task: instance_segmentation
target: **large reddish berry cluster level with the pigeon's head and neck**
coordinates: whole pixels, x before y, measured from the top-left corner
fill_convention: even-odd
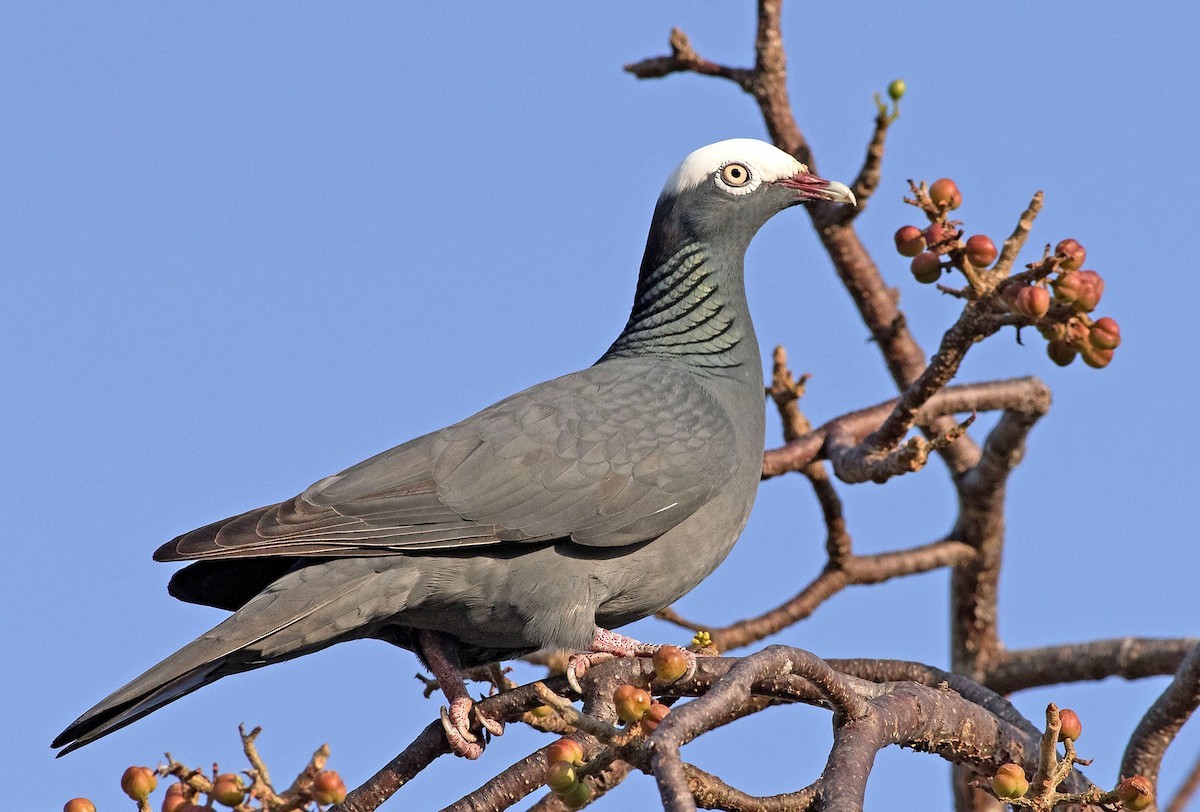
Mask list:
[[[992,273],[990,287],[998,289],[1003,307],[1021,323],[1037,326],[1055,363],[1067,366],[1076,355],[1094,368],[1112,361],[1121,330],[1109,317],[1091,317],[1104,294],[1104,279],[1084,270],[1087,252],[1078,240],[1062,240],[1052,254],[1048,249],[1039,263],[1015,276],[1009,276],[1007,260],[989,271],[1000,257],[991,237],[974,234],[964,240],[961,221],[947,219],[948,212],[962,204],[958,184],[942,178],[928,187],[914,184],[912,188],[914,197],[907,203],[922,209],[930,224],[924,229],[904,225],[894,240],[896,251],[912,258],[911,271],[918,282],[932,284],[953,269],[968,279]]]

